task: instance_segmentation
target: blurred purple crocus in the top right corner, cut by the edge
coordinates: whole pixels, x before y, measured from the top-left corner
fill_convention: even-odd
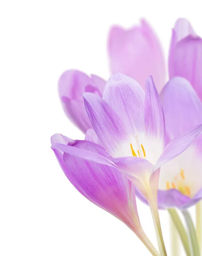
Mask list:
[[[169,76],[182,76],[190,81],[202,100],[202,39],[196,35],[188,20],[179,19],[173,29]]]

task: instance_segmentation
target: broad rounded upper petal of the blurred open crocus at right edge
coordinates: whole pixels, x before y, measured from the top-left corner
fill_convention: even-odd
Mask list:
[[[165,115],[166,132],[170,138],[202,123],[202,103],[186,79],[182,77],[171,79],[163,88],[160,98]]]

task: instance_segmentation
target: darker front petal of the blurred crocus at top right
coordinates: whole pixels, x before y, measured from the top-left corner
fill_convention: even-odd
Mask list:
[[[202,99],[202,39],[193,35],[179,41],[173,49],[173,72],[170,78],[182,76],[190,81]]]

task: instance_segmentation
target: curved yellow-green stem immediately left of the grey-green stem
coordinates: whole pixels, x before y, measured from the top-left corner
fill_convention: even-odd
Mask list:
[[[176,230],[179,233],[179,237],[182,241],[182,245],[184,247],[186,255],[191,256],[187,231],[185,230],[185,227],[182,224],[179,214],[177,213],[176,209],[168,209],[168,212],[172,218],[172,221],[174,223],[174,226],[176,227]]]

